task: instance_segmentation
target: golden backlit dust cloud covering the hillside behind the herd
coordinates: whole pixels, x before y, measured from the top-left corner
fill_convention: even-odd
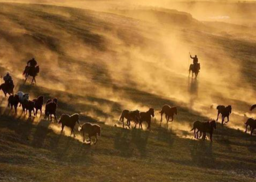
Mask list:
[[[234,113],[227,125],[235,129],[243,126],[243,113],[254,116],[248,111],[256,102],[255,84],[250,81],[254,72],[248,74],[250,67],[244,61],[253,61],[251,52],[246,52],[253,44],[230,37],[232,30],[242,34],[248,27],[231,26],[227,34],[221,34],[219,24],[201,18],[234,14],[211,15],[192,11],[199,7],[203,10],[201,4],[191,9],[186,3],[169,1],[147,1],[146,6],[144,1],[128,5],[110,1],[106,6],[98,6],[102,2],[25,3],[63,7],[9,3],[0,7],[1,74],[11,72],[14,81],[22,80],[26,61],[35,57],[41,69],[36,77],[38,85],[84,97],[79,104],[92,108],[81,114],[111,125],[118,122],[121,109],[146,111],[155,107],[157,113],[161,109],[159,98],[208,118],[216,117],[216,106],[232,104]],[[197,80],[188,77],[192,63],[189,52],[197,54],[201,64]],[[87,97],[114,104],[89,101]],[[115,104],[120,106],[113,111]],[[212,105],[214,109],[210,109]],[[156,118],[159,120],[158,114]],[[173,125],[188,131],[191,121]],[[182,132],[178,135],[186,137]]]

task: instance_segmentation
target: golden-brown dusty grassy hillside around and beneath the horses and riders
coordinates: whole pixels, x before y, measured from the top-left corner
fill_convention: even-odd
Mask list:
[[[77,126],[76,139],[68,129],[60,135],[57,123],[20,110],[13,116],[1,97],[0,181],[255,180],[255,137],[243,124],[244,114],[254,116],[255,43],[180,12],[196,23],[184,27],[170,21],[177,12],[166,11],[150,11],[159,22],[121,11],[0,4],[0,71],[11,72],[15,91],[57,97],[58,118],[79,113],[102,126],[99,143],[86,145]],[[197,81],[188,79],[188,51],[199,55]],[[32,56],[41,68],[38,87],[21,75]],[[164,104],[179,108],[168,125],[159,122]],[[230,122],[218,123],[213,143],[193,139],[193,121],[215,118],[217,104],[232,105]],[[149,107],[151,132],[119,127],[122,109]]]

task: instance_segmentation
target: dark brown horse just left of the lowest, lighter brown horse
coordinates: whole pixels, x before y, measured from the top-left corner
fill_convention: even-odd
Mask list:
[[[71,128],[71,134],[70,136],[72,136],[72,133],[74,134],[75,137],[75,131],[74,131],[74,127],[75,127],[75,123],[79,124],[79,114],[73,114],[72,116],[69,116],[68,114],[63,114],[60,117],[60,120],[58,122],[58,124],[61,124],[61,133],[64,130],[64,127],[67,126],[69,128]]]

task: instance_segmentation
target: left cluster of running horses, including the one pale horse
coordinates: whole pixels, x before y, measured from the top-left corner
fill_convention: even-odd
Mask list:
[[[19,105],[20,104],[20,105]],[[17,108],[18,105],[19,107],[22,106],[22,113],[27,115],[27,112],[29,113],[28,118],[32,118],[32,112],[34,116],[37,116],[38,110],[40,110],[40,116],[42,115],[42,108],[44,104],[44,97],[39,96],[36,99],[29,100],[29,93],[23,93],[19,91],[17,94],[11,95],[8,98],[8,107],[11,107],[11,110],[15,109],[15,114],[17,114]],[[58,106],[58,99],[53,98],[53,99],[48,99],[45,103],[45,116],[44,118],[48,117],[51,118],[52,121],[52,115],[55,117],[55,120],[57,121],[56,117],[56,110]],[[73,115],[68,115],[68,114],[63,114],[60,117],[60,120],[58,124],[61,124],[61,133],[64,130],[64,127],[67,126],[68,128],[71,128],[71,135],[72,133],[74,134],[75,137],[75,131],[74,131],[74,126],[75,124],[80,123],[80,115],[79,114],[73,114]],[[83,125],[79,126],[79,131],[83,133],[83,142],[85,142],[85,135],[88,134],[88,140],[89,143],[91,144],[91,137],[94,136],[96,138],[95,144],[97,143],[97,136],[100,136],[100,126],[97,124],[91,124],[91,123],[84,123]]]

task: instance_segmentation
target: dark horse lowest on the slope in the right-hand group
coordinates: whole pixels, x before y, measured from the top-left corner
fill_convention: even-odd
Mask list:
[[[197,132],[196,132],[196,129],[197,129]],[[201,137],[201,133],[203,132],[203,140],[205,140],[206,132],[209,132],[210,133],[210,139],[212,141],[212,134],[213,134],[214,129],[216,129],[215,120],[213,120],[211,122],[195,121],[193,123],[193,128],[190,131],[194,130],[195,138],[197,138],[197,139],[198,139],[198,132],[200,132],[199,138]]]

